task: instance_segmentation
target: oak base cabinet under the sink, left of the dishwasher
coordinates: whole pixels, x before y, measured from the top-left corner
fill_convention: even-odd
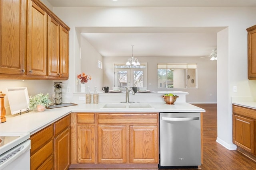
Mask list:
[[[158,113],[71,113],[74,168],[157,168]]]

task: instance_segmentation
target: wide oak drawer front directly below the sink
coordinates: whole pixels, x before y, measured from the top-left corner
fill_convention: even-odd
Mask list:
[[[98,113],[98,123],[158,123],[158,113]]]

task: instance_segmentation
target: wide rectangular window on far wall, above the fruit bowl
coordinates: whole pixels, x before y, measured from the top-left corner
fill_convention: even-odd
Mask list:
[[[197,64],[157,64],[158,88],[197,88]]]

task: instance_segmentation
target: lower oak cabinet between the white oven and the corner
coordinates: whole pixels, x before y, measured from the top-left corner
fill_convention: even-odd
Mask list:
[[[70,157],[70,115],[30,137],[31,170],[68,170]]]

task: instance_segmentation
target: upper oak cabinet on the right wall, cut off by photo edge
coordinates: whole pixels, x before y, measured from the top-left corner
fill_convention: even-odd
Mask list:
[[[248,31],[248,79],[256,80],[256,25]]]

